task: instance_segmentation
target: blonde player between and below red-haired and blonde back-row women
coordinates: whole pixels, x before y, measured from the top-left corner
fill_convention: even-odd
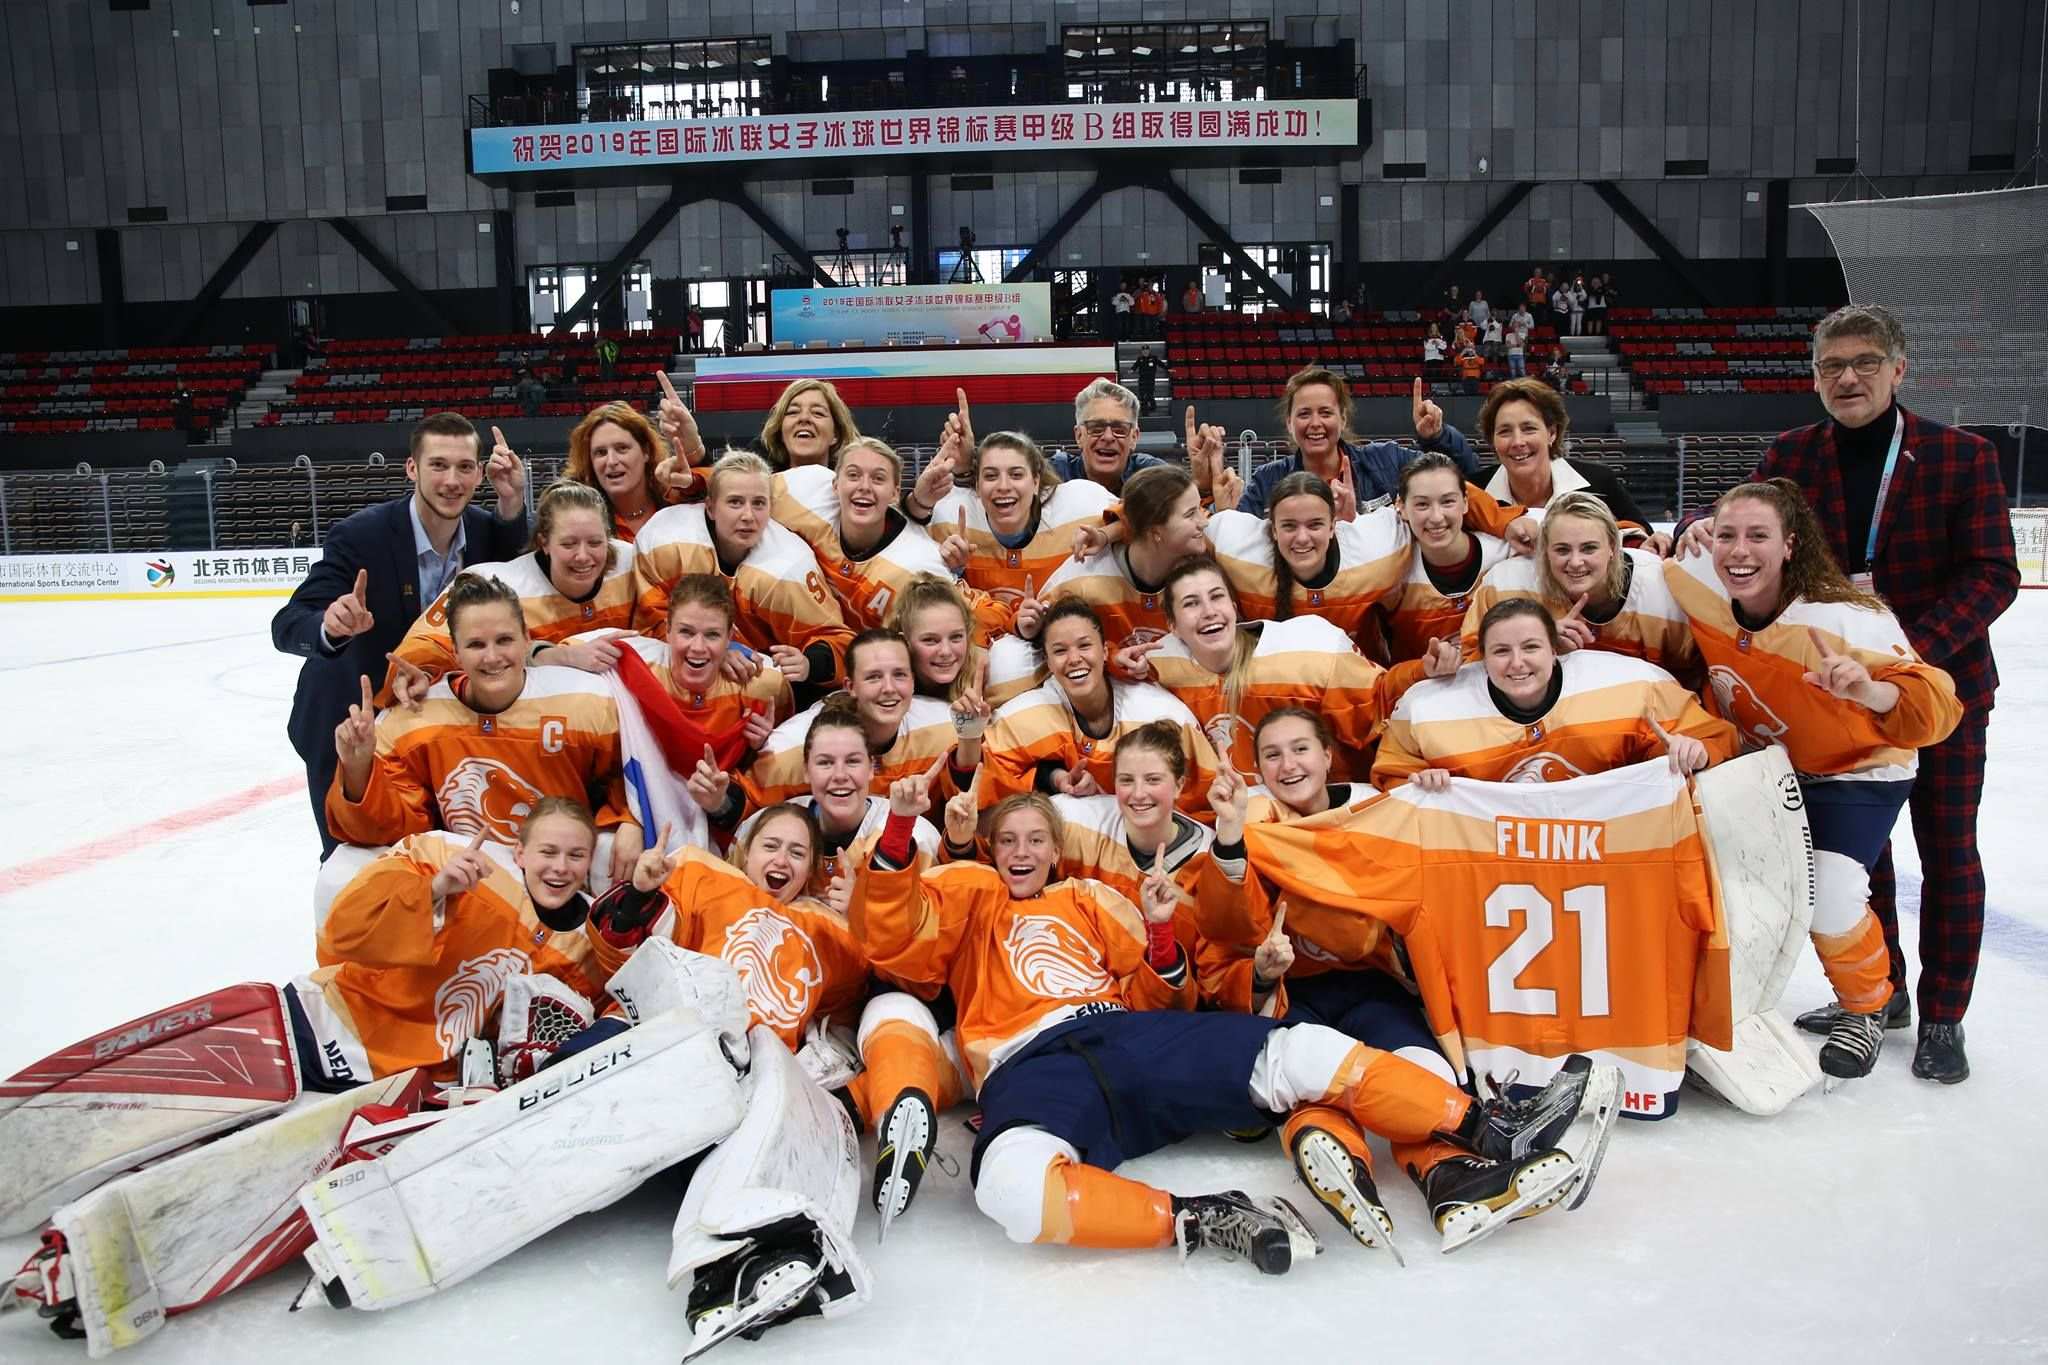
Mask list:
[[[815,698],[840,679],[854,632],[811,546],[768,514],[770,479],[762,456],[729,450],[711,467],[702,505],[668,508],[641,528],[635,622],[659,634],[676,579],[717,573],[733,585],[733,639],[745,647],[727,671],[745,681],[766,659]]]

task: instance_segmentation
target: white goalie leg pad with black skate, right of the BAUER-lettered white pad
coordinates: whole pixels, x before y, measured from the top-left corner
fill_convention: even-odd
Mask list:
[[[748,1111],[690,1177],[676,1214],[670,1287],[715,1279],[758,1234],[797,1218],[817,1230],[825,1259],[819,1310],[831,1318],[868,1300],[872,1279],[854,1248],[860,1138],[846,1105],[813,1083],[768,1027],[750,1038]],[[731,1267],[723,1267],[729,1271]]]

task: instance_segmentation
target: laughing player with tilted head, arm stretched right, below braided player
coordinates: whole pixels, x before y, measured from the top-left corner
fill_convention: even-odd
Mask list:
[[[1161,585],[1171,634],[1147,663],[1159,686],[1182,700],[1237,772],[1253,772],[1251,726],[1276,706],[1317,706],[1339,737],[1341,767],[1364,772],[1374,737],[1401,692],[1425,667],[1456,669],[1456,651],[1434,665],[1393,671],[1360,655],[1327,620],[1300,616],[1241,626],[1223,567],[1184,559]]]

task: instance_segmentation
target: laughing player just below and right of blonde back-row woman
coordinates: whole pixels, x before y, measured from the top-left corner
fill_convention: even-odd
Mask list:
[[[846,442],[834,469],[805,465],[774,481],[776,522],[817,553],[856,630],[887,622],[913,575],[952,577],[932,534],[897,508],[901,487],[903,456],[872,436]],[[977,645],[1010,628],[1012,612],[1001,602],[971,587],[963,596]]]

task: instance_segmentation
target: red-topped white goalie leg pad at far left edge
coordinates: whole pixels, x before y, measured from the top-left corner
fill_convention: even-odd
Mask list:
[[[270,984],[201,995],[53,1052],[0,1081],[0,1236],[297,1095],[299,1056]]]

